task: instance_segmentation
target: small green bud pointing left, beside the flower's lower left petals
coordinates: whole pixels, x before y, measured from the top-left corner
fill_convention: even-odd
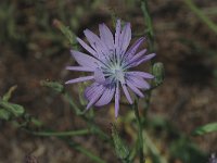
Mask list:
[[[41,80],[40,85],[53,89],[56,92],[63,92],[64,86],[58,82]]]

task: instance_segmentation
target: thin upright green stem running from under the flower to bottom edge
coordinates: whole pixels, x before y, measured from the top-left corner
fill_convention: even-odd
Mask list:
[[[139,116],[138,98],[135,100],[133,110],[135,110],[135,115],[136,115],[137,125],[138,125],[138,140],[139,140],[140,163],[143,163],[144,162],[144,154],[143,154],[142,123],[141,123],[141,118]]]

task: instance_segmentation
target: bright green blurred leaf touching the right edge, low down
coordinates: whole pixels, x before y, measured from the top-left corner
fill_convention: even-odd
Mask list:
[[[217,131],[217,123],[209,123],[204,126],[197,127],[192,131],[193,135],[204,135],[207,133]]]

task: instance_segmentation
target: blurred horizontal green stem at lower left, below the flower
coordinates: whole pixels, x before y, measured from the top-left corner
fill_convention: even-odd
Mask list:
[[[80,129],[80,130],[69,130],[69,131],[31,131],[33,135],[36,136],[55,136],[55,137],[66,137],[66,136],[81,136],[90,134],[89,129]]]

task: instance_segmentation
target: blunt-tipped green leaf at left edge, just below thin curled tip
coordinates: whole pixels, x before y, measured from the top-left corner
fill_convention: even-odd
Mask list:
[[[12,113],[14,116],[18,117],[21,115],[24,114],[25,110],[22,105],[20,104],[15,104],[15,103],[11,103],[11,102],[7,102],[3,100],[0,100],[0,105],[9,111],[10,113]]]

